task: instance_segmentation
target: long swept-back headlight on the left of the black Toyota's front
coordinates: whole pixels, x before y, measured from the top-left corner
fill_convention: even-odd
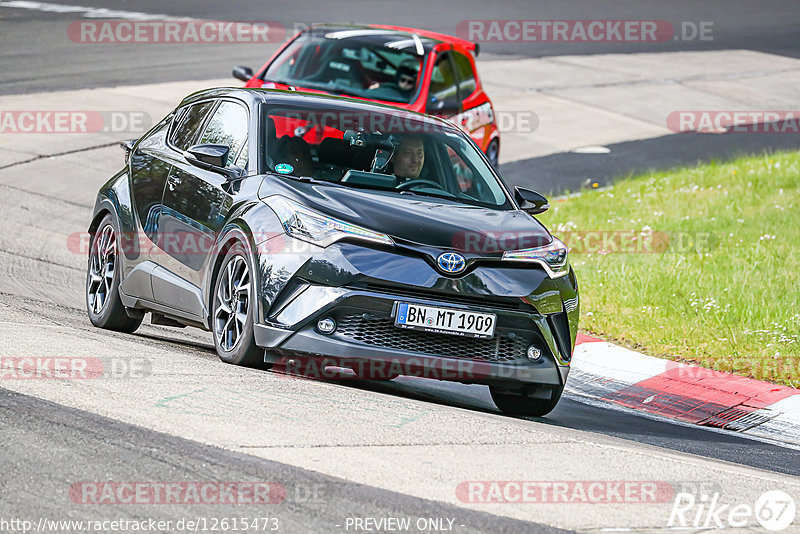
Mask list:
[[[320,247],[346,238],[394,244],[386,234],[329,217],[279,195],[267,198],[266,203],[278,215],[287,234]]]

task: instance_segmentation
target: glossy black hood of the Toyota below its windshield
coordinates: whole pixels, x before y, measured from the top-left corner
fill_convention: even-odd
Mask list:
[[[478,255],[552,241],[547,229],[519,210],[488,209],[432,197],[320,185],[268,176],[262,199],[282,195],[326,215],[385,233],[398,244]]]

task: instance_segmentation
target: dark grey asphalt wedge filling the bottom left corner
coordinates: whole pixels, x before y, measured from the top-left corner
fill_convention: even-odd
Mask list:
[[[182,481],[196,480],[198,473],[204,480],[268,480],[285,488],[285,501],[275,506],[280,506],[278,512],[269,508],[265,512],[263,505],[165,505],[156,515],[158,520],[175,524],[198,517],[271,516],[279,520],[282,532],[325,532],[338,530],[333,527],[344,525],[347,517],[432,513],[431,503],[423,499],[231,453],[1,389],[0,433],[5,445],[5,517],[66,517],[63,503],[70,501],[69,488],[76,480]],[[106,461],[110,459],[117,461]],[[566,532],[455,506],[440,504],[435,513],[455,519],[458,531],[464,533]],[[97,507],[92,519],[121,516],[147,520],[154,514],[142,507],[116,505]]]

